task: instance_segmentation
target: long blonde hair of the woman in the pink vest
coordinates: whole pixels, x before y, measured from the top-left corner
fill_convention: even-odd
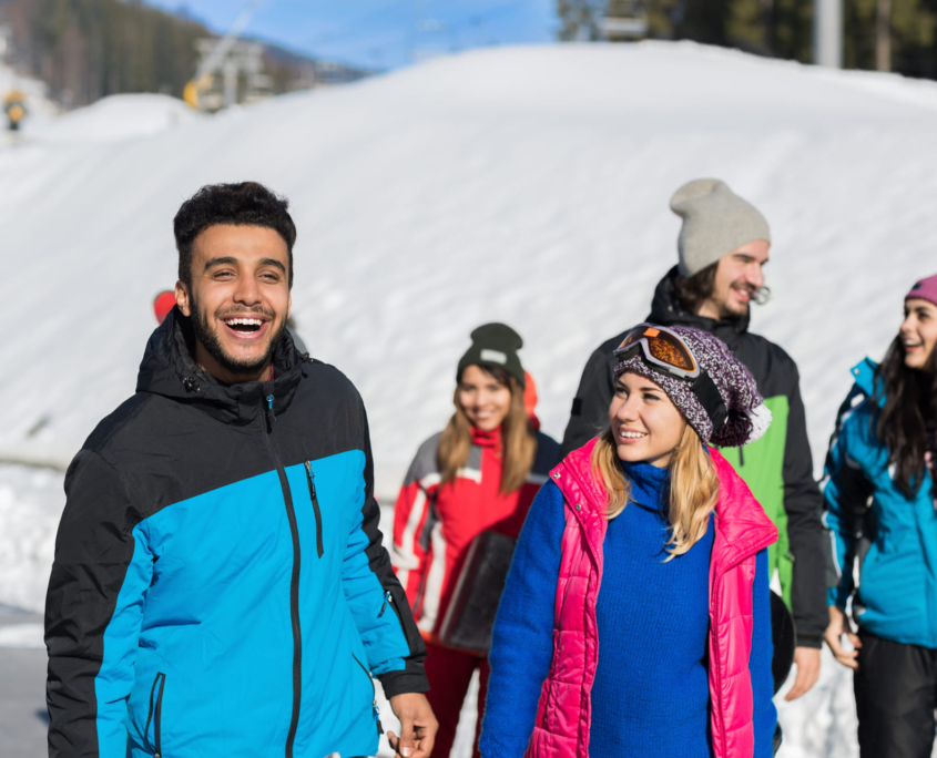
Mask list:
[[[670,561],[682,555],[706,533],[710,514],[719,500],[719,475],[712,459],[703,448],[700,436],[689,423],[673,449],[670,469],[670,540],[666,551]],[[620,515],[631,496],[631,482],[625,478],[614,440],[607,429],[592,449],[592,473],[602,482],[608,494],[605,518]]]

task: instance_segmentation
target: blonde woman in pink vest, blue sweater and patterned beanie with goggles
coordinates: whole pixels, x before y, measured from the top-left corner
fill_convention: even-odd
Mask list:
[[[767,546],[710,445],[771,412],[712,335],[644,324],[615,352],[609,428],[550,473],[495,625],[485,758],[770,758]]]

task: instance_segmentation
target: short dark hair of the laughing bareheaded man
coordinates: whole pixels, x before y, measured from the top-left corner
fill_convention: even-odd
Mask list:
[[[293,245],[296,225],[287,213],[289,201],[278,197],[263,184],[208,184],[185,201],[173,218],[175,247],[179,250],[179,278],[192,286],[192,246],[210,226],[265,226],[286,243],[289,252],[289,287],[293,287]]]

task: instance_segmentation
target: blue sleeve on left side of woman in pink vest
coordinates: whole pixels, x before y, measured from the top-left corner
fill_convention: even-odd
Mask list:
[[[515,549],[498,606],[491,676],[479,749],[485,758],[521,758],[553,658],[553,607],[566,518],[559,488],[540,490]]]

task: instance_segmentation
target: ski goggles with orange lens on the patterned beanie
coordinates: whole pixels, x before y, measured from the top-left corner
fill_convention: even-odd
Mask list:
[[[700,367],[690,346],[675,331],[653,324],[639,324],[624,336],[614,357],[622,362],[639,354],[655,371],[690,382],[690,390],[712,420],[713,429],[719,429],[729,418],[725,401],[712,377]]]

